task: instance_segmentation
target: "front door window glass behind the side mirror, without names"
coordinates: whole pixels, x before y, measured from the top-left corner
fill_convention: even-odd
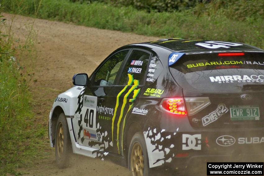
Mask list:
[[[95,73],[94,86],[111,86],[129,50],[121,51],[109,58]]]

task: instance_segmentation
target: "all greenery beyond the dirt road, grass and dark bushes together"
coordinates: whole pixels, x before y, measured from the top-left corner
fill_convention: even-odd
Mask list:
[[[39,2],[9,0],[6,11],[34,16]],[[42,4],[38,18],[147,36],[238,41],[264,48],[262,0],[43,0]]]

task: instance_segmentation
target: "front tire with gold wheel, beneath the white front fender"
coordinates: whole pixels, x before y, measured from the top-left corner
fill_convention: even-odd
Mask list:
[[[56,125],[55,156],[59,168],[68,166],[72,156],[70,133],[64,113],[59,115]]]

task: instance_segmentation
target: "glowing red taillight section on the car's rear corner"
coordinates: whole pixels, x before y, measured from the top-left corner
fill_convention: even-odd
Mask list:
[[[164,98],[160,106],[172,114],[186,115],[183,98]]]

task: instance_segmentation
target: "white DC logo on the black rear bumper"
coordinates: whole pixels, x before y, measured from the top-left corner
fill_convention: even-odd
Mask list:
[[[182,150],[201,150],[202,137],[200,134],[197,135],[182,135]]]

